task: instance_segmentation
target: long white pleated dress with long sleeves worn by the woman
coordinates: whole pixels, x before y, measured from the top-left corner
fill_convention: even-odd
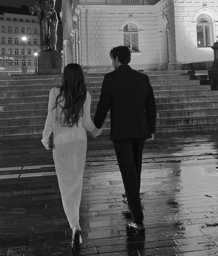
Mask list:
[[[48,115],[41,142],[48,147],[49,136],[53,129],[53,158],[60,187],[62,203],[70,227],[79,225],[79,206],[81,201],[83,170],[86,160],[86,130],[98,136],[97,129],[90,117],[91,96],[86,93],[83,116],[79,118],[78,127],[63,126],[62,108],[55,106],[60,88],[52,88],[49,94]],[[64,105],[64,101],[60,103]]]

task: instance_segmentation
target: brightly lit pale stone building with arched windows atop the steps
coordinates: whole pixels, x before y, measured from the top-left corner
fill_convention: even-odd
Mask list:
[[[206,69],[214,60],[217,0],[66,0],[60,16],[64,65],[105,72],[118,45],[142,70]]]

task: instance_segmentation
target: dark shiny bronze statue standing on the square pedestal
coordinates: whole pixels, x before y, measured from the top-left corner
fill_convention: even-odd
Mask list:
[[[37,0],[35,4],[29,6],[29,11],[33,15],[36,13],[39,19],[43,39],[45,43],[44,51],[57,51],[57,13],[54,10],[56,0]]]

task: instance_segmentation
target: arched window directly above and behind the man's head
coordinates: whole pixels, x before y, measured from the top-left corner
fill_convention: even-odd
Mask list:
[[[139,52],[139,32],[138,28],[130,23],[124,27],[124,45],[129,47],[131,52]]]

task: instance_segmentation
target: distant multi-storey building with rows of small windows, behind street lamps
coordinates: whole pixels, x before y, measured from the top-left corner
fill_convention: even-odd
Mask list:
[[[24,6],[25,7],[25,6]],[[37,16],[27,8],[0,7],[0,72],[21,72],[24,54],[28,72],[35,71],[35,52],[41,51]],[[22,37],[26,37],[26,41]]]

